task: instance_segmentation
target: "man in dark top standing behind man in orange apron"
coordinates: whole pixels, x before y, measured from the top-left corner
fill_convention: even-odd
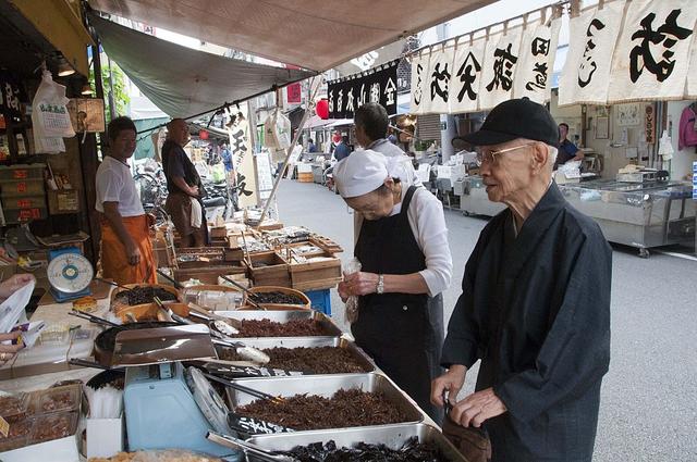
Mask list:
[[[206,208],[201,200],[205,189],[196,167],[184,152],[188,142],[188,125],[182,118],[174,118],[167,129],[162,170],[169,195],[164,209],[181,237],[182,247],[203,247],[208,241]]]

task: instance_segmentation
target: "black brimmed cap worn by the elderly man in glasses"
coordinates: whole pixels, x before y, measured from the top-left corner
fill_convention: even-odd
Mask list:
[[[478,132],[453,138],[455,148],[465,141],[472,146],[491,146],[516,138],[559,146],[559,126],[547,108],[528,98],[504,101],[491,110]]]

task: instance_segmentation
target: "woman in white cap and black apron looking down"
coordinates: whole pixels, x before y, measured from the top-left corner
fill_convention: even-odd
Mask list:
[[[354,250],[362,272],[346,275],[339,294],[344,300],[359,296],[358,317],[351,326],[358,346],[439,421],[430,380],[441,348],[433,344],[442,333],[431,328],[427,299],[450,285],[448,228],[430,191],[403,186],[390,175],[400,161],[365,150],[334,167],[339,192],[364,218]]]

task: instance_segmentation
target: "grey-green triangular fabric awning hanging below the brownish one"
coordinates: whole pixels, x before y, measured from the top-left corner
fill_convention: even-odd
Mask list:
[[[193,50],[89,14],[107,54],[172,117],[209,111],[314,75]]]

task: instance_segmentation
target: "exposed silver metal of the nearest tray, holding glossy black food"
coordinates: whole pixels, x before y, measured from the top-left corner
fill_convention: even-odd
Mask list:
[[[445,439],[442,433],[436,427],[426,424],[398,424],[382,425],[380,427],[345,428],[316,432],[297,432],[282,435],[257,435],[247,441],[260,446],[271,451],[288,451],[296,446],[307,446],[313,442],[322,445],[330,439],[337,442],[338,447],[354,447],[358,442],[383,444],[391,449],[399,449],[404,442],[418,436],[419,442],[432,442],[441,451],[442,455],[452,462],[467,462],[455,447]],[[248,455],[250,462],[258,462],[259,459]]]

